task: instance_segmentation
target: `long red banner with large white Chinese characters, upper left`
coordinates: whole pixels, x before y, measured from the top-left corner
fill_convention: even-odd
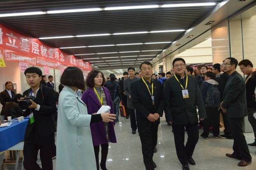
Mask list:
[[[39,39],[17,33],[0,24],[0,55],[7,61],[26,62],[34,66],[46,66],[64,69],[67,66],[80,67],[90,71],[89,62],[76,59],[73,55],[63,53],[59,48],[52,48]]]

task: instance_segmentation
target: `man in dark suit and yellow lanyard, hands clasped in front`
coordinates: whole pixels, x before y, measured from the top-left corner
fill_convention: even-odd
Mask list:
[[[131,98],[136,110],[136,120],[142,145],[146,170],[156,168],[153,151],[157,144],[157,130],[164,110],[163,90],[158,80],[152,79],[150,62],[140,65],[142,78],[131,83]]]

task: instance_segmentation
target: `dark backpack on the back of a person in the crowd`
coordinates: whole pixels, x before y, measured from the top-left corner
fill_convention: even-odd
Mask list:
[[[219,107],[221,103],[221,93],[217,85],[210,85],[207,90],[207,97],[205,99],[207,106]]]

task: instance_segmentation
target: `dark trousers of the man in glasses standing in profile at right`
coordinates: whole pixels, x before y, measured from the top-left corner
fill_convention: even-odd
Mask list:
[[[231,129],[231,134],[234,139],[233,143],[233,155],[244,161],[251,161],[251,155],[248,149],[247,142],[242,131],[242,122],[244,117],[229,118],[228,122]]]

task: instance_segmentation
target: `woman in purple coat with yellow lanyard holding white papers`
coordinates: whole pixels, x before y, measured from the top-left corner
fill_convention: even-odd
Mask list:
[[[96,113],[102,105],[110,106],[110,113],[114,113],[110,93],[103,85],[106,83],[101,71],[92,70],[86,78],[88,90],[82,95],[82,101],[87,105],[88,114]],[[106,160],[108,155],[108,142],[116,143],[114,126],[115,122],[98,122],[90,125],[92,131],[92,141],[96,158],[97,170],[99,170],[99,145],[101,145],[101,169],[106,170]]]

